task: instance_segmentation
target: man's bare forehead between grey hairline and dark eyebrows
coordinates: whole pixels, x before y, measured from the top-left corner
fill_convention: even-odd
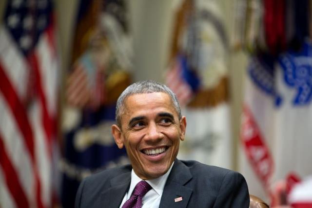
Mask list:
[[[177,116],[171,97],[164,92],[133,94],[125,100],[124,114],[140,114],[161,110]]]

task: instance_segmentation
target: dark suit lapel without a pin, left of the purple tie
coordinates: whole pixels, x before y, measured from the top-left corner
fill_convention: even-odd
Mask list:
[[[101,207],[118,208],[128,191],[131,180],[131,172],[123,173],[111,180],[111,188],[101,193]]]

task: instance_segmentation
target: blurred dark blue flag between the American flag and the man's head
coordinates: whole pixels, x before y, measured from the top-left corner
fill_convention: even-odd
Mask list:
[[[66,80],[61,200],[72,208],[80,181],[128,163],[111,134],[119,94],[130,84],[131,42],[123,0],[81,0]]]

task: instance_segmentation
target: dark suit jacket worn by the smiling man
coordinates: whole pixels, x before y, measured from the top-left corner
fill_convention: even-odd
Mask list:
[[[122,166],[87,177],[79,186],[76,208],[118,208],[128,191],[132,167]],[[175,198],[182,196],[182,201]],[[196,161],[175,160],[159,208],[248,208],[245,178],[234,171]]]

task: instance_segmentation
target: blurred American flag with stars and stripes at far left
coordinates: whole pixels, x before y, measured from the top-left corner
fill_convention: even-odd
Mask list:
[[[10,0],[0,25],[0,207],[52,206],[58,60],[52,2]]]

